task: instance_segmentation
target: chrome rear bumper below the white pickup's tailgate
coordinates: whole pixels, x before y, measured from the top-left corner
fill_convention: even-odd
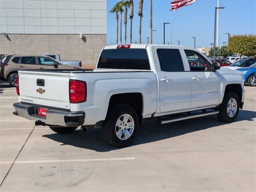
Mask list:
[[[42,117],[37,114],[37,109],[41,106],[27,103],[14,103],[13,106],[16,110],[16,112],[14,112],[15,115],[29,120],[40,120],[46,125],[76,127],[84,124],[84,112],[70,112],[67,110],[42,106],[42,108],[47,108],[46,117]]]

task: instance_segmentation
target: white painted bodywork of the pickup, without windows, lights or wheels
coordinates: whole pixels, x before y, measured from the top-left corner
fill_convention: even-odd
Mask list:
[[[190,71],[182,46],[132,44],[130,49],[146,49],[150,70],[97,69],[86,72],[19,71],[20,100],[33,100],[33,104],[85,112],[84,125],[105,120],[111,96],[138,92],[143,98],[143,118],[163,116],[192,110],[213,108],[223,100],[228,84],[240,84],[244,89],[242,72],[221,68],[216,71]],[[156,53],[158,48],[178,49],[184,64],[182,72],[164,72]],[[103,50],[116,49],[116,45]],[[204,57],[204,56],[202,56]],[[204,57],[206,60],[208,58]],[[210,62],[210,60],[208,60]],[[38,94],[36,79],[45,79],[45,94]],[[164,81],[168,78],[168,81]],[[194,79],[196,78],[196,79]],[[69,102],[69,80],[86,82],[86,102]],[[242,98],[242,101],[244,98]]]

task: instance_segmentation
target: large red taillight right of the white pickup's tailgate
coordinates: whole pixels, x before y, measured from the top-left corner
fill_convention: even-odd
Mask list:
[[[82,103],[86,101],[86,82],[79,80],[69,81],[70,103]]]

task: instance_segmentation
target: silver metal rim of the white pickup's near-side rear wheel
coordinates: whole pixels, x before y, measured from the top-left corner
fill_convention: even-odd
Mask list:
[[[116,121],[116,136],[120,140],[129,139],[134,131],[134,120],[129,114],[121,115]]]

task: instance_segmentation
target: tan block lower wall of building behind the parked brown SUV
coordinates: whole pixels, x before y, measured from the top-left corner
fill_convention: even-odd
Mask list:
[[[84,68],[95,68],[106,45],[106,34],[0,34],[0,54],[60,54],[61,60],[82,60]]]

